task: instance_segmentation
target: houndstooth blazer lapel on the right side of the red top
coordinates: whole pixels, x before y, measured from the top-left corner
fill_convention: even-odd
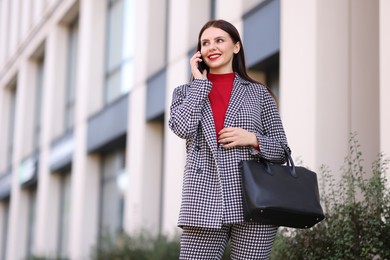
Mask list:
[[[230,96],[229,106],[226,111],[224,127],[233,127],[233,122],[237,112],[240,110],[244,102],[246,88],[241,84],[241,78],[236,76],[233,83],[232,94]]]

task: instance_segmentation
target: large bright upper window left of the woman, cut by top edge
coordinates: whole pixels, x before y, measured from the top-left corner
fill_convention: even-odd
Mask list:
[[[110,0],[106,43],[105,103],[128,93],[134,84],[134,0]]]

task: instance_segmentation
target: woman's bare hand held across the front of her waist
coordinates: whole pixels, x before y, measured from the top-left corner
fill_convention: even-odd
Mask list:
[[[224,148],[233,148],[236,146],[251,145],[259,147],[256,135],[239,127],[227,127],[218,133],[218,143],[223,144]]]

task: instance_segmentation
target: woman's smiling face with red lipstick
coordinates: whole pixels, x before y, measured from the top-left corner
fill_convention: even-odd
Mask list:
[[[203,61],[210,73],[233,72],[233,56],[240,51],[240,43],[234,43],[230,35],[222,29],[207,28],[200,38]]]

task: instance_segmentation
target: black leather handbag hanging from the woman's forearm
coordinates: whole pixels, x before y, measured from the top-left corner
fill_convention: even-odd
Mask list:
[[[296,167],[289,149],[283,148],[287,165],[262,159],[241,161],[244,219],[292,228],[313,227],[325,218],[317,174]]]

